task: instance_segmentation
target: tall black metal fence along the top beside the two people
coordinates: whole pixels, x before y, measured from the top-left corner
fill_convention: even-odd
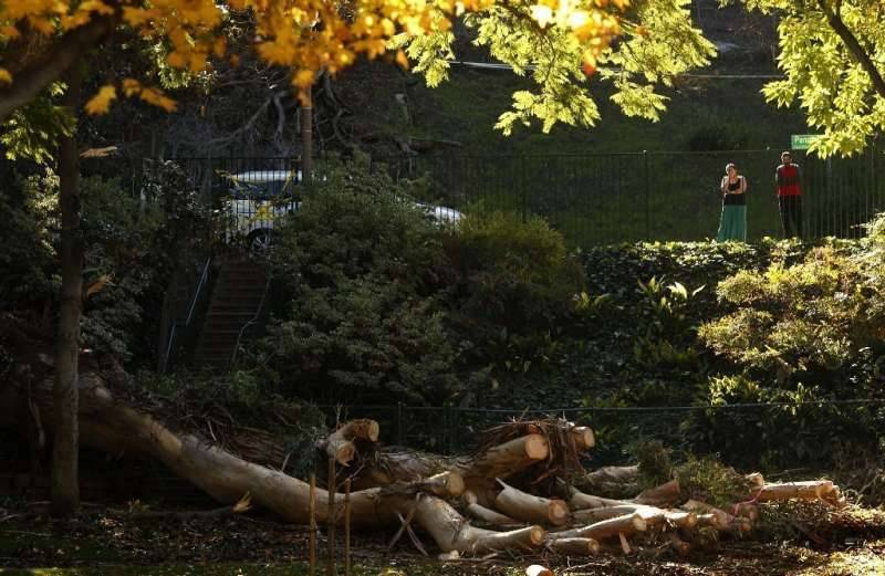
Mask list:
[[[885,211],[885,155],[875,146],[851,158],[820,159],[794,153],[802,169],[806,239],[858,238],[863,224]],[[183,158],[207,203],[236,191],[236,175],[256,181],[290,175],[293,158]],[[748,180],[748,241],[780,237],[774,184],[779,150],[625,153],[546,156],[419,156],[375,160],[394,178],[428,176],[433,198],[462,212],[479,209],[540,214],[573,245],[635,241],[699,241],[716,237],[719,182],[735,163]],[[316,163],[322,167],[322,163]],[[242,178],[241,178],[242,179]],[[300,186],[288,188],[295,196]],[[239,210],[251,205],[241,203]],[[264,210],[264,212],[268,212]],[[270,212],[273,217],[275,213]],[[266,218],[268,213],[240,214]],[[254,228],[254,227],[253,227]]]

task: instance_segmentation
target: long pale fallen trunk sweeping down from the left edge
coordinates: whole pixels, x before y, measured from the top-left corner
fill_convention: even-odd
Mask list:
[[[249,493],[253,503],[282,519],[308,524],[308,483],[247,462],[194,434],[171,431],[152,415],[122,404],[96,374],[84,374],[80,381],[82,401],[79,420],[83,444],[113,454],[149,454],[221,503],[235,504]],[[41,411],[51,413],[51,380],[34,388],[34,400]],[[8,383],[0,386],[0,418],[14,415],[22,401],[18,387]],[[323,502],[329,500],[329,494],[325,490],[316,489],[315,499]],[[334,511],[332,520],[340,522],[343,494],[335,494],[334,503],[330,506]],[[415,485],[353,492],[350,494],[350,510],[354,526],[395,525],[399,515],[412,513],[416,523],[445,552],[537,547],[545,536],[545,531],[540,526],[512,532],[476,528],[447,502],[420,493]],[[329,510],[317,506],[316,522],[326,523],[329,520]]]

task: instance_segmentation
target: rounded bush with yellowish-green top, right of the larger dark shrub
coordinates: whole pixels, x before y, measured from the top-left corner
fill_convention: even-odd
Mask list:
[[[562,234],[540,217],[523,222],[480,210],[449,232],[445,252],[456,274],[448,290],[452,321],[477,344],[476,359],[521,371],[549,360],[583,290]]]

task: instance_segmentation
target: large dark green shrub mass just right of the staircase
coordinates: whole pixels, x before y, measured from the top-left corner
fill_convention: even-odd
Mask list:
[[[435,222],[424,193],[333,167],[277,230],[284,305],[243,368],[290,396],[436,405],[528,369],[580,287],[562,235],[500,212]]]

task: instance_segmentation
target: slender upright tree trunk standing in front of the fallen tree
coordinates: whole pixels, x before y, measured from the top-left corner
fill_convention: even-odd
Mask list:
[[[64,105],[76,117],[82,63],[67,72]],[[80,509],[77,483],[77,377],[80,358],[80,316],[83,308],[83,238],[80,229],[80,165],[76,151],[76,128],[59,146],[59,181],[61,207],[62,289],[59,336],[55,359],[55,430],[52,446],[52,512],[70,516]]]

